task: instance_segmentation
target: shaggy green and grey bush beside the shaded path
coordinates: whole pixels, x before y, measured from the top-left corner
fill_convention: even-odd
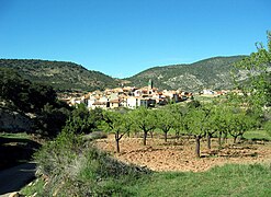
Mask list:
[[[35,159],[38,171],[48,177],[44,189],[48,196],[131,196],[124,185],[151,172],[111,158],[68,127]]]

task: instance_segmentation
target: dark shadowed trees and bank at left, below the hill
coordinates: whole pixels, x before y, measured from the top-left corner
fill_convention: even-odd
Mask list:
[[[55,90],[0,68],[0,131],[34,132],[55,137],[71,108],[57,100]]]

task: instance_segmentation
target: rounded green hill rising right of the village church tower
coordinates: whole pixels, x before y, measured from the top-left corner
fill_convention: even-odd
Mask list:
[[[180,89],[194,92],[202,89],[230,89],[233,63],[245,57],[214,57],[190,65],[154,67],[124,80],[126,85],[146,86],[151,79],[154,86],[160,90]]]

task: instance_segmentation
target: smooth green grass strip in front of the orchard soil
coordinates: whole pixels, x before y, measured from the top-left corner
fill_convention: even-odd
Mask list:
[[[126,189],[134,196],[270,196],[270,179],[268,166],[228,164],[202,173],[155,173]]]

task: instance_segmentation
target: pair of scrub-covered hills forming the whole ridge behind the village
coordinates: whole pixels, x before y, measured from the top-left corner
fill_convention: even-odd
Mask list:
[[[0,67],[12,68],[25,79],[49,84],[57,91],[93,91],[122,84],[146,86],[149,79],[160,90],[199,91],[233,88],[230,69],[234,62],[245,57],[247,56],[217,56],[192,63],[156,66],[124,79],[88,70],[70,61],[0,59]]]

